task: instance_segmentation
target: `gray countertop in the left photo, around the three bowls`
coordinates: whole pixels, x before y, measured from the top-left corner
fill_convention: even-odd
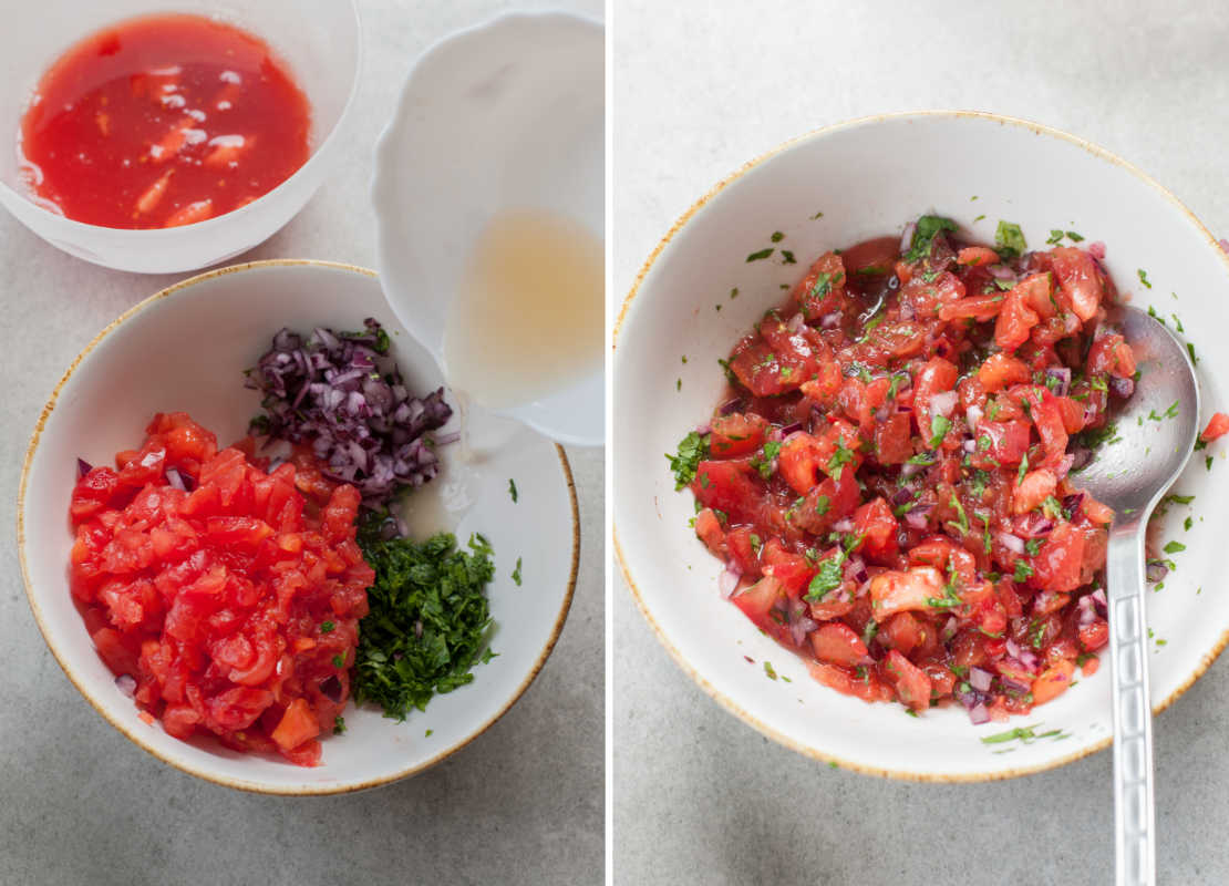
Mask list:
[[[497,0],[364,0],[364,79],[343,168],[281,232],[236,261],[375,264],[375,139],[410,61],[504,9]],[[600,0],[526,2],[602,15]],[[436,768],[379,790],[280,799],[165,766],[107,725],[31,617],[11,532],[34,419],[77,351],[172,283],[69,258],[0,214],[0,884],[594,884],[603,828],[603,457],[571,450],[581,563],[559,644],[525,697]]]

